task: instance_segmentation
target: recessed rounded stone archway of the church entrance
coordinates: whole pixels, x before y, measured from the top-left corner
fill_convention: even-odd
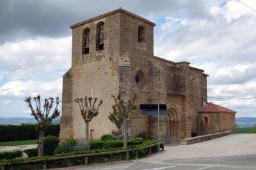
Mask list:
[[[168,129],[167,136],[171,139],[179,139],[180,138],[180,115],[177,106],[172,104],[170,108],[168,108]]]

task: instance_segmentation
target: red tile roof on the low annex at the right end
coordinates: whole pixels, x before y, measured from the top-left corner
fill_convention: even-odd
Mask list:
[[[216,113],[216,112],[223,112],[223,113],[236,113],[234,110],[230,110],[228,108],[224,108],[217,104],[208,103],[202,109],[198,111],[199,113]]]

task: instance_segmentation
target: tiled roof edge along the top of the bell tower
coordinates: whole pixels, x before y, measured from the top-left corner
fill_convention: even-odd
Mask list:
[[[89,19],[81,21],[81,22],[77,22],[76,24],[70,25],[70,28],[73,29],[74,27],[77,27],[79,25],[83,25],[86,22],[92,22],[93,20],[99,20],[100,18],[108,17],[109,15],[112,15],[112,14],[117,13],[117,12],[124,12],[124,13],[126,13],[128,15],[131,15],[132,17],[138,18],[140,20],[143,20],[144,22],[147,22],[148,24],[156,26],[156,24],[154,22],[151,22],[150,20],[147,20],[147,19],[145,19],[143,17],[140,17],[140,15],[136,15],[136,14],[131,13],[130,11],[124,10],[122,8],[117,8],[116,10],[109,11],[107,13],[103,13],[102,15],[98,15],[96,17],[89,18]]]

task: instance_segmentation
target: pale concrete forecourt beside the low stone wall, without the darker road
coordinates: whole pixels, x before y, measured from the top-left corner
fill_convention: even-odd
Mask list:
[[[191,145],[164,146],[164,152],[143,161],[256,154],[256,134],[231,134]]]

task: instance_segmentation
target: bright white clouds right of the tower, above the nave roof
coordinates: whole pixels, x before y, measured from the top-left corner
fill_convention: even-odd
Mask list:
[[[155,30],[155,55],[204,69],[208,96],[256,97],[256,13],[235,0],[207,12],[209,17],[199,18],[166,15]],[[256,99],[209,101],[237,111],[237,117],[256,116]]]

